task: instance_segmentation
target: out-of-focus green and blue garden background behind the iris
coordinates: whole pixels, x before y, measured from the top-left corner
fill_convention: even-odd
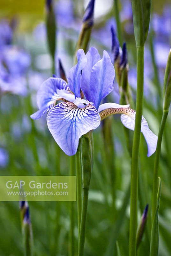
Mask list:
[[[145,96],[143,115],[150,129],[158,134],[162,115],[163,76],[171,45],[170,1],[152,1],[150,32],[145,47]],[[57,58],[66,71],[73,66],[73,55],[81,19],[87,1],[63,0],[55,2],[57,22]],[[131,3],[119,3],[123,41],[127,43],[130,72],[129,83],[135,100],[136,55]],[[30,56],[30,64],[22,75],[26,93],[3,91],[0,87],[0,172],[1,175],[69,175],[69,157],[57,146],[46,124],[46,117],[33,121],[29,116],[37,109],[36,92],[41,83],[51,76],[51,59],[45,31],[44,1],[1,0],[0,18],[13,21],[12,45],[17,45]],[[97,0],[95,24],[90,46],[99,52],[111,52],[110,26],[115,26],[112,0]],[[56,65],[56,70],[58,66]],[[21,83],[22,84],[22,83]],[[22,92],[21,86],[21,92]],[[159,95],[160,91],[160,95]],[[110,100],[119,102],[115,90]],[[105,127],[112,137],[112,153],[108,154]],[[171,255],[171,117],[168,116],[160,160],[162,191],[160,199],[159,256]],[[106,128],[107,129],[107,128]],[[107,133],[109,134],[109,133]],[[90,187],[85,240],[85,256],[119,255],[129,253],[129,184],[130,156],[126,146],[120,116],[108,118],[93,132],[94,166]],[[154,156],[148,158],[144,137],[140,145],[140,174],[138,187],[138,220],[149,204],[152,208],[152,177]],[[29,202],[35,255],[68,255],[69,202]],[[75,248],[77,251],[77,205],[75,202]],[[18,202],[0,202],[0,255],[24,255]],[[149,255],[150,217],[138,255]]]

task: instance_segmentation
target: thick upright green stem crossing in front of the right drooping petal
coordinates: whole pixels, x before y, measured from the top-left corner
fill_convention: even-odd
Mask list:
[[[141,133],[144,85],[144,46],[137,47],[137,102],[135,131],[132,147],[130,190],[130,247],[129,255],[136,256],[137,201],[138,201],[138,152]]]

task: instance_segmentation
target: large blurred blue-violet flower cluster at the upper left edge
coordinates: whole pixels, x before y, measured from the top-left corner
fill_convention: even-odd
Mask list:
[[[3,44],[0,45],[0,92],[25,96],[27,93],[25,74],[31,63],[30,55],[11,45],[12,30],[7,22],[0,23],[0,37],[1,34]]]

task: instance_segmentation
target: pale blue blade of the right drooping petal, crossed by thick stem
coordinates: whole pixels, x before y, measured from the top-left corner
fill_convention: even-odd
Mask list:
[[[129,115],[121,115],[121,122],[123,123],[123,125],[133,131],[135,127],[135,115],[135,111]],[[143,133],[147,143],[147,156],[151,156],[156,151],[158,137],[149,129],[147,121],[145,120],[144,116],[142,116],[141,120],[141,132]]]

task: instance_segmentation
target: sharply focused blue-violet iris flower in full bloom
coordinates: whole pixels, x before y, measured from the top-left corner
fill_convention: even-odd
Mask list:
[[[100,59],[94,47],[86,55],[79,49],[77,59],[77,65],[69,71],[68,84],[61,78],[51,77],[41,85],[37,93],[39,110],[31,115],[31,118],[39,119],[48,112],[48,129],[69,156],[77,152],[79,138],[96,129],[101,119],[122,114],[123,125],[134,130],[136,114],[129,105],[100,105],[101,100],[112,92],[115,78],[115,69],[106,51]],[[83,93],[86,99],[83,99]],[[57,100],[64,102],[55,105]],[[148,156],[151,156],[156,150],[157,136],[149,129],[143,116],[141,132],[148,145]]]

